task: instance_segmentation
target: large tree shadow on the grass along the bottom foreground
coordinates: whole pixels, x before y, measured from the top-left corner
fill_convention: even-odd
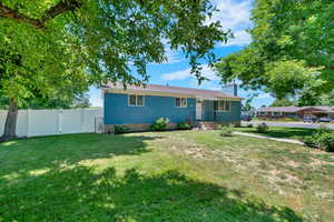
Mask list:
[[[148,176],[132,169],[117,175],[112,168],[58,169],[8,184],[0,205],[0,221],[302,221],[288,208],[177,171]]]

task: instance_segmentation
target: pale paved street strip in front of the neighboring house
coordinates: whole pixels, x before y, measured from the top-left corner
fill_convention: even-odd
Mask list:
[[[273,121],[252,121],[253,124],[259,124],[265,122],[269,127],[283,127],[283,128],[306,128],[306,129],[317,129],[325,125],[334,130],[333,123],[305,123],[305,122],[273,122]],[[249,122],[243,122],[243,124],[248,124]]]

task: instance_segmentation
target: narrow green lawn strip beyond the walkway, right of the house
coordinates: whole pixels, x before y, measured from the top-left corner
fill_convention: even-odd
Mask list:
[[[269,127],[269,130],[266,133],[258,133],[256,125],[254,128],[235,128],[236,131],[255,133],[259,135],[267,135],[272,138],[286,138],[301,140],[305,135],[312,135],[316,130],[315,129],[304,129],[304,128],[281,128],[281,127]]]

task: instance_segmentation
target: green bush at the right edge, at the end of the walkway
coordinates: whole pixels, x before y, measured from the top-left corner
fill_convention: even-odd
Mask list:
[[[310,148],[334,152],[334,132],[325,127],[317,129],[312,135],[304,137],[303,142]]]

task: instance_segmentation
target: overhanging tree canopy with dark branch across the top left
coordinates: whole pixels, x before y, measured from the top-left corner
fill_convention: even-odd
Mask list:
[[[55,53],[50,48],[62,44],[67,36],[71,53],[80,52],[77,62],[85,63],[97,81],[128,83],[148,80],[146,64],[166,60],[166,42],[185,52],[200,79],[199,60],[213,62],[210,50],[228,36],[219,22],[205,24],[214,11],[208,0],[4,0],[0,4],[0,17],[6,18],[1,27],[14,30],[16,48],[30,41],[24,52],[30,52],[33,65]],[[134,69],[136,74],[130,73]]]

